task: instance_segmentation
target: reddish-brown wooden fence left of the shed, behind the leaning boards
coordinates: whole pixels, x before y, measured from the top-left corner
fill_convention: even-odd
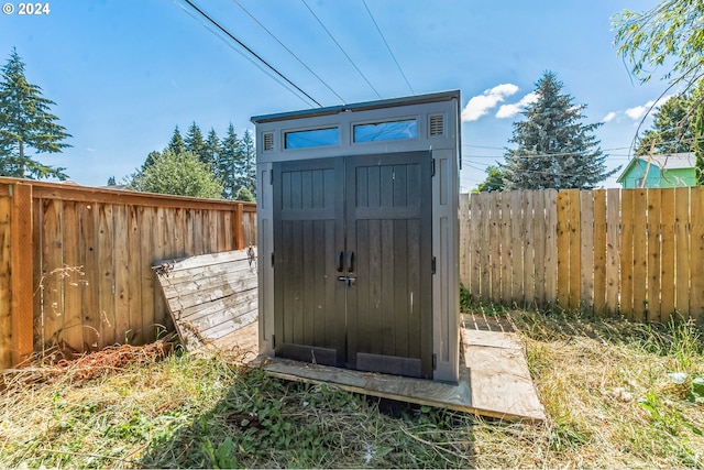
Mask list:
[[[0,178],[0,368],[170,327],[160,260],[256,244],[256,205]]]

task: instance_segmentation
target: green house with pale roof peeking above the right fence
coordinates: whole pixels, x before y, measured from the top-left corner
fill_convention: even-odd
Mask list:
[[[620,183],[624,189],[696,186],[694,162],[692,152],[652,155],[650,165],[648,155],[637,156],[628,163],[616,183]]]

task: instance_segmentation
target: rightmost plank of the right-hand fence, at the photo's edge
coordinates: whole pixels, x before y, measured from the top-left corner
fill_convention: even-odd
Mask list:
[[[695,217],[704,207],[704,187],[697,186],[690,189],[691,196],[691,223],[690,237],[690,317],[697,324],[704,324],[704,218]]]

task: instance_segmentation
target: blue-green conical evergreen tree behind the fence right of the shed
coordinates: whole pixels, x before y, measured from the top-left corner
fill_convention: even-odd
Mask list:
[[[525,121],[514,122],[504,172],[506,189],[593,188],[619,168],[606,172],[606,156],[592,132],[601,123],[584,124],[586,105],[574,106],[561,94],[562,83],[546,72],[536,83],[538,99],[528,105]]]

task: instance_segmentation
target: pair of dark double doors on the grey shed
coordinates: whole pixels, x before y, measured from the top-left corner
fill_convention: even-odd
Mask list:
[[[274,164],[277,357],[432,376],[430,152]]]

